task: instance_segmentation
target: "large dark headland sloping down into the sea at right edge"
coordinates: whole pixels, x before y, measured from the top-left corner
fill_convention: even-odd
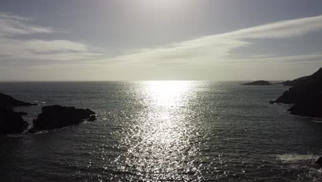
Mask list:
[[[322,117],[322,68],[301,84],[290,88],[271,103],[294,103],[291,114],[303,117]]]

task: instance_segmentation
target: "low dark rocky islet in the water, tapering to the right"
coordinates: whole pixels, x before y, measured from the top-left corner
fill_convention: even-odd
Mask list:
[[[29,132],[41,130],[53,130],[69,125],[76,125],[85,119],[96,120],[94,111],[89,109],[77,109],[74,107],[64,107],[61,105],[50,105],[42,108],[41,114],[34,119],[34,126]]]

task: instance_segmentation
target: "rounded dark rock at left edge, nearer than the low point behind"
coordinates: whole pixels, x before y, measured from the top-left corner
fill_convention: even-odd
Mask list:
[[[0,108],[0,134],[18,134],[28,128],[28,122],[24,121],[21,113],[12,108]]]

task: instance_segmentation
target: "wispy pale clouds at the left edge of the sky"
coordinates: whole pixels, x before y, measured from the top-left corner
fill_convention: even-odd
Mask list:
[[[30,17],[0,12],[0,57],[10,59],[81,60],[101,56],[96,48],[69,40],[19,39],[19,34],[63,32],[54,28],[35,26]]]

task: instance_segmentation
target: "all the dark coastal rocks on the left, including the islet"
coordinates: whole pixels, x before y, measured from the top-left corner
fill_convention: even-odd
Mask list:
[[[18,106],[31,106],[34,103],[19,101],[13,97],[0,93],[0,135],[20,134],[28,129],[28,122],[23,119],[27,112],[14,111]],[[95,112],[89,109],[49,105],[42,108],[42,112],[33,120],[33,126],[28,132],[53,130],[69,125],[76,125],[82,121],[96,120]]]

